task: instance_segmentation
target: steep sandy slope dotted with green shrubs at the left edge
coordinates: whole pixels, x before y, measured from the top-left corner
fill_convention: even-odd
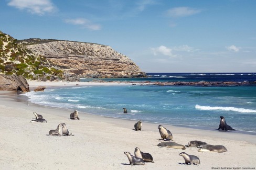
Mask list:
[[[60,80],[62,71],[0,31],[0,74],[23,75],[31,80]]]

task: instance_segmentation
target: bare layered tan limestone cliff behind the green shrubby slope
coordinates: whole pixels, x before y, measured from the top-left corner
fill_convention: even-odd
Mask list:
[[[109,46],[74,41],[29,40],[20,42],[27,43],[29,50],[58,66],[67,80],[68,77],[74,78],[74,75],[103,78],[146,76],[132,60]]]

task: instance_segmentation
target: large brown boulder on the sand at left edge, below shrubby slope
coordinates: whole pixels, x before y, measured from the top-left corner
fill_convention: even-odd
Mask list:
[[[29,85],[22,75],[0,74],[0,90],[29,92]]]

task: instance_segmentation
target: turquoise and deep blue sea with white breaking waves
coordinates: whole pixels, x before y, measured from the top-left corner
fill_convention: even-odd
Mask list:
[[[256,73],[147,73],[145,78],[108,78],[121,82],[254,82]],[[81,82],[92,81],[82,78]],[[79,83],[78,83],[79,84]],[[136,122],[218,129],[220,116],[239,132],[256,134],[256,84],[247,86],[110,85],[47,88],[25,94],[31,103],[67,108]],[[123,107],[128,114],[123,114]]]

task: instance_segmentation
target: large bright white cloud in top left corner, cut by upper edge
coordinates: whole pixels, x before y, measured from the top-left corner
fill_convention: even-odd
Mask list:
[[[21,10],[27,10],[29,13],[44,15],[56,10],[51,0],[10,0],[7,4]]]

